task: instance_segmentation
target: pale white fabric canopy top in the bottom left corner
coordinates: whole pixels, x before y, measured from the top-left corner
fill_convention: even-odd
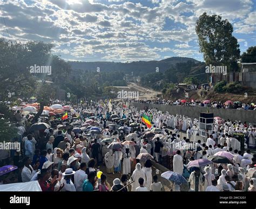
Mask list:
[[[41,186],[38,181],[15,183],[15,184],[2,184],[0,185],[1,192],[42,192]]]

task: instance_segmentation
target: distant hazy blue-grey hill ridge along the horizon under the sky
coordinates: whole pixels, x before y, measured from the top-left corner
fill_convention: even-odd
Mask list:
[[[82,69],[88,71],[97,71],[99,67],[100,71],[122,71],[124,73],[133,75],[142,75],[145,73],[156,72],[158,67],[159,72],[165,72],[167,69],[175,67],[177,63],[193,61],[200,64],[196,59],[187,57],[171,57],[160,61],[133,61],[133,62],[107,62],[107,61],[95,61],[95,62],[80,62],[69,61],[72,69]]]

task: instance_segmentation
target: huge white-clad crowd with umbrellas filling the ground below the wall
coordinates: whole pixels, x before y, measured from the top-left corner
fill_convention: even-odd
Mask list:
[[[1,152],[1,164],[11,159],[17,178],[6,173],[0,176],[2,184],[38,181],[42,191],[164,191],[155,163],[186,179],[172,182],[171,191],[256,191],[252,124],[216,120],[213,130],[200,138],[199,121],[186,116],[137,110],[124,101],[69,106],[74,111],[67,110],[66,117],[41,117],[46,125],[40,129],[31,129],[39,126],[31,123],[33,115],[16,112],[22,150],[11,158]],[[143,115],[151,124],[142,122]],[[245,144],[235,134],[242,134]],[[250,149],[242,153],[244,145]],[[116,177],[112,186],[110,175]]]

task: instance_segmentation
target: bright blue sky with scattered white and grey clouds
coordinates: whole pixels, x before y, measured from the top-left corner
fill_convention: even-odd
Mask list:
[[[253,0],[0,0],[0,8],[0,38],[52,43],[65,60],[203,61],[195,26],[205,11],[232,23],[241,53],[256,45]]]

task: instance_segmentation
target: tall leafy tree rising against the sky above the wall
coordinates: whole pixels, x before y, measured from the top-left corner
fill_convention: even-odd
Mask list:
[[[240,58],[238,41],[232,36],[233,26],[220,16],[208,16],[206,12],[196,23],[200,52],[207,65],[226,65],[228,71],[237,71]],[[231,67],[232,66],[232,67]]]

